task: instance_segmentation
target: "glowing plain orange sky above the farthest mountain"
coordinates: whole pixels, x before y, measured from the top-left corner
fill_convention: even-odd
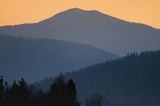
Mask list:
[[[75,7],[160,28],[160,0],[0,0],[0,26],[38,22]]]

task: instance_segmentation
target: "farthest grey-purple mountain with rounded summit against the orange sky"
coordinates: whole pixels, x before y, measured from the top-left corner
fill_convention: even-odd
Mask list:
[[[119,55],[160,49],[159,29],[77,8],[34,24],[3,26],[0,33],[89,44]]]

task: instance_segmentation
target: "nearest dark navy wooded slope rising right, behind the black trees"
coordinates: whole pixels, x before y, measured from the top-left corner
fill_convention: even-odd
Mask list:
[[[100,93],[113,106],[160,105],[160,51],[133,53],[64,76],[75,81],[81,101]],[[45,79],[37,86],[46,89],[52,82]]]

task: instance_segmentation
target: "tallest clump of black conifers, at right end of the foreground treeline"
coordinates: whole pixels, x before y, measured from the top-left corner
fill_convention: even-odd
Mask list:
[[[73,80],[67,83],[63,75],[56,77],[48,93],[49,106],[79,106],[76,85]]]

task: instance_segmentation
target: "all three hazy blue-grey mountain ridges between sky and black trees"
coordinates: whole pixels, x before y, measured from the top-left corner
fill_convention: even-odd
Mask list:
[[[0,75],[34,82],[65,73],[82,101],[100,93],[115,106],[159,106],[160,51],[117,59],[158,49],[159,29],[74,8],[38,23],[0,27]],[[52,83],[35,85],[47,90]]]

